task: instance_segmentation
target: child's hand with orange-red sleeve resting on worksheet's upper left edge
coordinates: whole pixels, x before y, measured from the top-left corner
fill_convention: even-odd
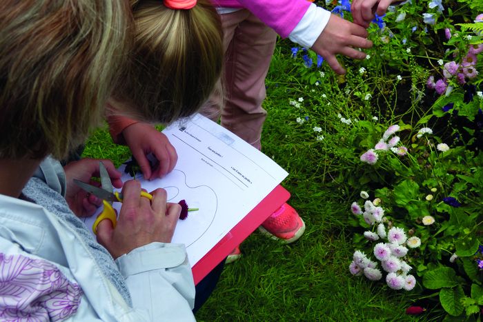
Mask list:
[[[175,168],[178,154],[175,147],[163,133],[147,123],[135,123],[122,131],[126,144],[148,180],[164,177]],[[152,153],[159,161],[156,169],[151,169],[147,155]]]

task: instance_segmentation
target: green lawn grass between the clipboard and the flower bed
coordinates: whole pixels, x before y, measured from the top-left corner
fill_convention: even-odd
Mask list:
[[[290,174],[282,183],[290,191],[290,204],[306,222],[299,241],[284,245],[258,232],[242,243],[243,257],[226,265],[217,288],[197,312],[199,321],[413,321],[405,314],[406,292],[387,290],[384,283],[354,277],[348,265],[354,251],[348,226],[351,200],[359,191],[334,180],[351,175],[353,162],[335,159],[337,142],[316,141],[311,127],[295,122],[297,111],[289,99],[309,97],[297,81],[293,61],[278,46],[267,77],[262,151]],[[337,83],[325,84],[326,92]],[[313,87],[311,87],[313,88]],[[322,91],[318,89],[317,91]],[[320,92],[318,92],[320,93]],[[330,101],[330,98],[328,99]],[[309,107],[314,125],[334,131],[328,114],[335,106]],[[342,103],[344,105],[344,103]],[[330,113],[329,113],[330,112]],[[375,111],[378,112],[378,111]],[[298,113],[298,114],[297,114]],[[112,159],[116,165],[129,152],[110,142],[106,130],[95,133],[84,156]],[[354,157],[357,158],[357,157]],[[350,159],[350,160],[349,160]]]

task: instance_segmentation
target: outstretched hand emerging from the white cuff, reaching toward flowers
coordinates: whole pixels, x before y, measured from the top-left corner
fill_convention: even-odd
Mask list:
[[[331,14],[326,28],[311,49],[324,57],[334,72],[345,74],[346,70],[340,66],[335,55],[343,54],[353,59],[364,59],[366,54],[356,48],[371,48],[373,46],[373,42],[366,39],[367,35],[365,28],[344,20],[336,14]]]

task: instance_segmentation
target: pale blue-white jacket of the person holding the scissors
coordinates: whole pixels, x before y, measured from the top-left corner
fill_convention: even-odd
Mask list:
[[[43,162],[43,181],[53,180],[57,190],[65,187],[61,172],[53,170],[58,166],[52,159]],[[48,185],[49,192],[65,203],[61,194],[50,189],[55,184]],[[150,243],[116,260],[132,307],[89,247],[69,221],[36,203],[0,194],[1,259],[18,254],[43,259],[55,265],[68,281],[77,283],[83,295],[77,312],[66,316],[68,321],[194,321],[195,285],[184,245]],[[7,300],[0,290],[0,311]]]

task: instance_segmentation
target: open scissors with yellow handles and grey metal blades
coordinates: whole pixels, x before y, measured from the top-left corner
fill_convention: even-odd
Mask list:
[[[101,214],[97,216],[97,219],[92,225],[92,232],[94,232],[94,234],[97,234],[97,225],[99,225],[99,223],[104,219],[109,219],[112,223],[112,227],[116,228],[117,217],[114,208],[112,208],[112,203],[122,202],[123,199],[122,194],[119,192],[114,192],[114,188],[110,182],[108,170],[106,170],[106,167],[102,162],[99,162],[99,173],[101,176],[101,188],[74,179],[74,182],[79,185],[80,188],[86,190],[90,194],[94,194],[97,198],[102,199],[103,210]],[[152,195],[148,194],[148,192],[141,191],[141,197],[152,200]]]

